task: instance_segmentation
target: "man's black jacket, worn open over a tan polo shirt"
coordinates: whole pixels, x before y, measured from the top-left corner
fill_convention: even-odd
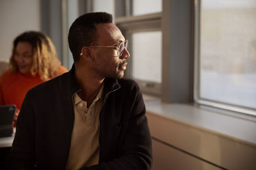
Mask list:
[[[10,169],[65,169],[74,125],[72,95],[79,90],[72,69],[29,90],[17,120]],[[104,80],[99,164],[82,169],[150,169],[152,143],[138,84]]]

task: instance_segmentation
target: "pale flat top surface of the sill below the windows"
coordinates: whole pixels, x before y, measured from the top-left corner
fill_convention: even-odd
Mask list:
[[[143,94],[147,112],[256,147],[256,117],[193,104],[161,103]]]

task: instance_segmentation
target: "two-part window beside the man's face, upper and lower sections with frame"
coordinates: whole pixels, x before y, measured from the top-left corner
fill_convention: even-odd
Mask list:
[[[115,1],[115,23],[125,38],[129,39],[128,50],[131,57],[125,76],[136,80],[142,92],[160,96],[162,82],[162,1],[122,2]]]

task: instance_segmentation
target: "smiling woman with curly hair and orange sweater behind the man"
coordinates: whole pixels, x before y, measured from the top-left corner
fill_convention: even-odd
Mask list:
[[[15,104],[16,120],[29,89],[65,72],[47,35],[37,31],[20,34],[13,41],[10,69],[0,76],[0,105]]]

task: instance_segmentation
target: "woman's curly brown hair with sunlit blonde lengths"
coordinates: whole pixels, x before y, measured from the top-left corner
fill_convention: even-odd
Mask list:
[[[10,58],[12,71],[19,71],[14,60],[15,49],[19,42],[28,42],[32,45],[33,57],[30,71],[33,76],[38,73],[43,81],[47,81],[58,74],[61,62],[58,59],[55,46],[49,36],[38,31],[23,32],[14,39]]]

